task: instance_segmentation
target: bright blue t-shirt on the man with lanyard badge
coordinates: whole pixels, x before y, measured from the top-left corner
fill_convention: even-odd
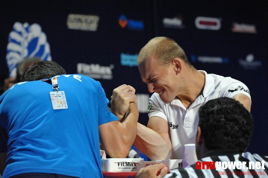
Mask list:
[[[98,81],[72,74],[57,77],[68,109],[52,108],[52,85],[20,82],[0,96],[0,152],[3,177],[39,172],[103,177],[98,125],[118,120]],[[8,139],[7,139],[8,136]]]

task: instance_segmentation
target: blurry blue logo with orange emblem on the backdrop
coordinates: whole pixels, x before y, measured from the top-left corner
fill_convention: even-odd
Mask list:
[[[129,30],[143,30],[144,22],[142,20],[127,19],[125,15],[120,15],[118,24],[121,28],[128,28]]]

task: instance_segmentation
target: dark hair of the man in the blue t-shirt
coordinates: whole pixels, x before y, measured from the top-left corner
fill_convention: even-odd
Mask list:
[[[40,61],[30,66],[23,74],[22,81],[34,81],[66,74],[66,71],[54,61]]]

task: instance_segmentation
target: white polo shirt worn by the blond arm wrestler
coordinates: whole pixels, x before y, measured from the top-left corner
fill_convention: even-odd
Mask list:
[[[233,97],[238,93],[247,95],[250,93],[247,86],[231,77],[222,77],[215,74],[207,74],[206,71],[199,71],[206,76],[203,95],[198,96],[191,106],[186,109],[179,99],[165,104],[158,93],[153,93],[149,99],[148,116],[162,117],[170,125],[172,142],[171,159],[182,159],[184,144],[195,143],[198,127],[198,109],[207,101],[220,97]]]

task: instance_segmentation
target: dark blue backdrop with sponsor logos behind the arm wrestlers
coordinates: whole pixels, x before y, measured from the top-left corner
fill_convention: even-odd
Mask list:
[[[8,73],[6,47],[13,24],[38,23],[47,36],[52,60],[68,73],[95,76],[107,98],[121,84],[136,88],[139,122],[146,125],[151,94],[141,82],[135,59],[148,40],[167,36],[185,50],[196,69],[230,76],[248,86],[255,123],[248,151],[268,155],[267,9],[261,2],[254,3],[2,0],[0,83]],[[70,14],[99,17],[96,31],[69,29]]]

